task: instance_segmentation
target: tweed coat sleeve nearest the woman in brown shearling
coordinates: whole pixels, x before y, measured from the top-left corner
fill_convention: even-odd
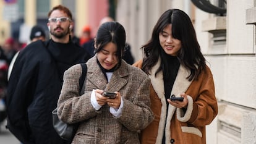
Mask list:
[[[118,118],[127,129],[135,132],[145,129],[154,119],[150,109],[150,78],[146,77],[136,90],[132,101],[123,99],[124,107]]]

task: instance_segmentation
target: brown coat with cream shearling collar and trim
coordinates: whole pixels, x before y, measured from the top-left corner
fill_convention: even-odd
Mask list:
[[[142,60],[135,62],[134,66],[141,68]],[[153,75],[149,75],[152,83],[151,109],[155,119],[142,131],[141,143],[162,143],[165,129],[166,143],[170,143],[173,139],[175,144],[205,144],[205,125],[210,124],[218,113],[213,75],[209,67],[200,74],[198,80],[192,80],[192,82],[186,78],[189,72],[185,67],[182,65],[179,67],[171,95],[179,96],[181,93],[186,93],[189,101],[187,110],[184,111],[169,104],[169,109],[166,111],[163,72],[155,77],[159,66],[160,61],[152,67],[150,74]]]

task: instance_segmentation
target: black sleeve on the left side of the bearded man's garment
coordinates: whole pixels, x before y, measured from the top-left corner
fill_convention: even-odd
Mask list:
[[[27,108],[35,90],[36,67],[20,53],[14,63],[7,88],[7,128],[22,143],[32,143]]]

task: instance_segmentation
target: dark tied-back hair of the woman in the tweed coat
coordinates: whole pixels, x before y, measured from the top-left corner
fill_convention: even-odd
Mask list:
[[[96,34],[95,52],[98,53],[104,48],[106,44],[112,42],[117,46],[117,67],[120,66],[122,60],[122,54],[126,48],[126,31],[124,27],[118,22],[105,22],[100,25]]]

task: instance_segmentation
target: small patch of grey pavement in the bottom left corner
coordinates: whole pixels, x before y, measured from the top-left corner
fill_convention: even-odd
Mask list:
[[[0,144],[20,144],[17,138],[6,129],[6,121],[0,125]]]

